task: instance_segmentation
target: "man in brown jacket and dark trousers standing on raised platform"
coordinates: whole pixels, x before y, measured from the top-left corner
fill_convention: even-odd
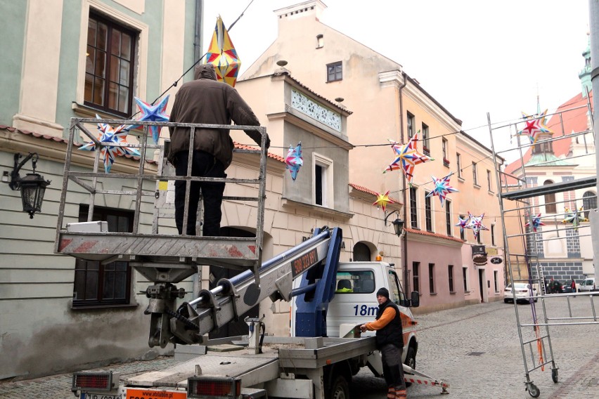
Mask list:
[[[259,126],[258,118],[238,91],[217,81],[214,65],[198,65],[194,77],[195,80],[183,84],[176,93],[169,122],[228,125],[233,121],[238,125]],[[186,176],[191,129],[178,126],[169,127],[169,131],[169,162],[175,166],[177,176]],[[245,133],[260,145],[262,136],[258,131],[246,130]],[[270,138],[266,136],[266,148],[269,146]],[[191,176],[226,178],[225,170],[233,159],[233,140],[228,129],[195,129],[191,159]],[[204,202],[203,235],[220,235],[224,188],[224,182],[191,182],[187,235],[195,235],[200,190]],[[183,234],[185,194],[186,182],[176,181],[175,223],[179,234]]]

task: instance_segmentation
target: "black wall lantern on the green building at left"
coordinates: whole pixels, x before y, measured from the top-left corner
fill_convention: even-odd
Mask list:
[[[45,180],[44,176],[35,173],[35,164],[39,159],[37,152],[30,152],[25,159],[19,163],[19,153],[15,154],[15,166],[11,172],[11,181],[8,186],[12,190],[20,190],[23,204],[23,211],[29,214],[32,219],[35,212],[41,212],[41,202],[44,201],[44,193],[46,187],[50,184],[49,180]],[[25,162],[31,159],[33,164],[33,173],[21,178],[19,171]]]

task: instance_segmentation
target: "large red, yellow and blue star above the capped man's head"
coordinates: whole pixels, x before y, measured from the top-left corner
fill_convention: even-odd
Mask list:
[[[233,46],[231,37],[228,36],[220,15],[217,18],[217,25],[214,26],[214,33],[206,53],[205,63],[214,65],[219,81],[224,81],[229,86],[235,87],[241,60],[237,55],[235,46]]]

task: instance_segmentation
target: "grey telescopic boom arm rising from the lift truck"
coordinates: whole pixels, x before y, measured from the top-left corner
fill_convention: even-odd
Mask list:
[[[333,287],[341,240],[340,228],[316,229],[309,240],[262,263],[259,285],[252,271],[246,270],[230,280],[220,280],[214,289],[202,290],[197,299],[183,303],[176,312],[165,312],[170,318],[169,341],[199,344],[202,343],[202,335],[238,320],[240,315],[266,297],[273,301],[290,301],[295,294],[292,293],[292,281],[304,273],[311,275],[309,280],[317,281],[313,284],[316,292],[319,287]],[[152,334],[150,330],[150,346]]]

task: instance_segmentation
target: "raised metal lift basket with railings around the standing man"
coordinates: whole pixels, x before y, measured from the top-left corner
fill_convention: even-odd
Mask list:
[[[125,140],[101,141],[97,133],[90,131],[90,124],[107,124],[110,126],[124,125],[128,127],[141,126],[139,143],[130,143]],[[176,176],[174,168],[165,159],[165,145],[148,143],[151,137],[150,126],[186,127],[190,131],[190,143],[198,129],[237,129],[258,131],[262,136],[259,149],[251,150],[234,148],[233,152],[255,154],[259,158],[259,167],[252,168],[256,172],[254,178],[206,178],[192,176],[191,159],[188,159],[186,176]],[[95,156],[91,171],[85,170],[82,163],[89,160],[82,159],[82,153],[75,155],[80,136],[89,139],[94,144]],[[151,138],[150,138],[151,140]],[[168,141],[167,141],[168,143]],[[245,146],[244,146],[245,147]],[[115,152],[120,148],[129,148],[139,151],[139,165],[136,173],[118,173],[100,170],[105,159],[101,154],[115,157]],[[190,146],[193,148],[193,145]],[[155,162],[148,162],[150,150],[160,152],[158,166]],[[107,153],[110,152],[110,153]],[[189,152],[191,158],[192,152]],[[264,231],[264,199],[266,197],[266,128],[263,126],[236,126],[217,124],[176,124],[171,122],[145,122],[138,120],[121,119],[94,119],[72,118],[69,128],[69,139],[65,155],[65,169],[63,186],[60,194],[58,208],[58,221],[56,228],[55,252],[76,256],[81,259],[101,261],[132,261],[149,267],[176,268],[182,264],[204,264],[221,266],[225,268],[247,269],[255,272],[262,264],[262,244]],[[121,158],[116,155],[119,164]],[[119,164],[120,165],[120,164]],[[131,166],[129,165],[129,168]],[[88,168],[89,169],[89,168]],[[118,169],[117,170],[127,170]],[[161,207],[165,205],[164,196],[168,194],[167,186],[174,181],[185,181],[186,201],[183,214],[183,233],[186,233],[188,221],[189,195],[192,182],[222,182],[241,187],[243,194],[250,187],[247,196],[224,196],[223,201],[249,203],[252,212],[255,211],[256,224],[247,226],[255,231],[254,237],[202,237],[193,235],[178,235],[172,218],[172,213]],[[72,184],[75,183],[75,188]],[[154,186],[151,184],[154,183]],[[172,194],[172,193],[171,193]],[[84,197],[87,195],[86,201]],[[106,231],[105,225],[91,223],[85,228],[77,223],[79,221],[78,209],[75,211],[73,204],[86,202],[89,204],[86,221],[94,222],[94,207],[106,204],[107,197],[115,196],[117,199],[108,203],[125,204],[124,209],[133,211],[133,223],[130,231]],[[152,205],[150,205],[150,203]],[[150,209],[153,207],[153,210]],[[201,209],[201,207],[200,207]],[[152,222],[148,223],[147,214],[153,214]],[[166,233],[164,233],[166,232]],[[256,278],[257,273],[255,273]],[[157,277],[158,279],[159,277]]]

